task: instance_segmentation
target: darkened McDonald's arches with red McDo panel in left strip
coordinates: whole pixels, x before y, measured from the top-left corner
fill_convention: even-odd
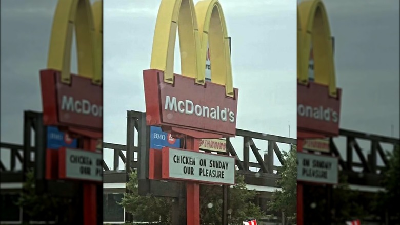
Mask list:
[[[93,8],[93,11],[92,11]],[[48,69],[40,71],[45,125],[103,129],[102,2],[60,0],[53,18]],[[78,73],[70,73],[75,27]]]

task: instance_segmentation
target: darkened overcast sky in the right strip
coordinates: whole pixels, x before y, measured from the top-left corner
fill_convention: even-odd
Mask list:
[[[335,37],[336,82],[343,90],[340,127],[392,136],[393,125],[393,136],[399,138],[399,2],[324,3]],[[369,152],[370,142],[357,142],[364,154]]]

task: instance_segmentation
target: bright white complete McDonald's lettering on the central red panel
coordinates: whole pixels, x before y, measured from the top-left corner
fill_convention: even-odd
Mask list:
[[[185,101],[176,101],[176,97],[171,98],[170,96],[166,96],[164,109],[188,115],[194,113],[198,117],[206,117],[213,120],[235,122],[235,113],[229,108],[221,108],[219,106],[209,108],[207,106],[195,105],[188,99]]]

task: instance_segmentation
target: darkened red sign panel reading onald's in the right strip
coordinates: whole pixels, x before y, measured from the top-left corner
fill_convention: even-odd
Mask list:
[[[328,86],[309,82],[308,86],[297,84],[297,129],[302,132],[337,136],[342,90],[337,97],[328,95]]]

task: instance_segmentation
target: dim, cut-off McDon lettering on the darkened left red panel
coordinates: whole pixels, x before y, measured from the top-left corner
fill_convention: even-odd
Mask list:
[[[103,117],[103,106],[91,104],[89,100],[75,100],[71,96],[63,95],[61,100],[61,110],[73,113]]]

